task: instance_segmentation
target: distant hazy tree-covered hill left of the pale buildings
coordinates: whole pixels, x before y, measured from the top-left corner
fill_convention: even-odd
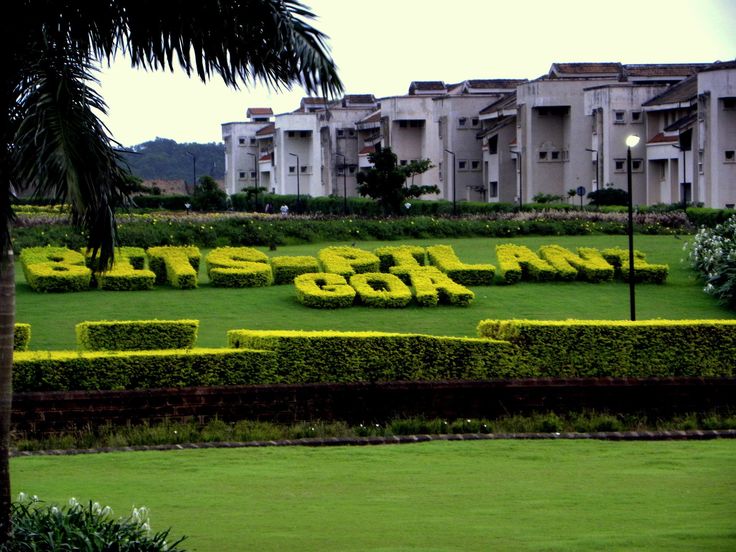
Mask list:
[[[225,147],[223,144],[178,144],[168,138],[156,138],[129,148],[123,158],[137,177],[144,180],[184,180],[192,182],[193,163],[197,158],[197,172],[225,176]],[[190,188],[191,191],[191,188]]]

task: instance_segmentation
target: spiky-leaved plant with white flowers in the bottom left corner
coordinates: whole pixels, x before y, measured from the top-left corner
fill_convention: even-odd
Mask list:
[[[167,542],[169,530],[153,533],[145,507],[114,519],[97,502],[82,506],[72,498],[65,506],[48,505],[21,493],[11,510],[13,532],[2,552],[85,550],[87,552],[163,552],[183,550],[184,538]]]

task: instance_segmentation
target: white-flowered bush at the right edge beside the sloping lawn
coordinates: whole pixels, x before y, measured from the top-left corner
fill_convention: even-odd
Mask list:
[[[689,258],[705,282],[703,291],[736,307],[736,216],[713,229],[701,228],[689,246]]]

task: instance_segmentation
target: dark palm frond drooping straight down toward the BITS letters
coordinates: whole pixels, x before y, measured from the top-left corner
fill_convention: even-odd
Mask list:
[[[118,145],[96,113],[103,99],[90,86],[92,60],[48,39],[36,44],[17,95],[23,118],[12,153],[15,181],[71,206],[102,266],[113,257],[115,208],[125,200],[126,171]]]

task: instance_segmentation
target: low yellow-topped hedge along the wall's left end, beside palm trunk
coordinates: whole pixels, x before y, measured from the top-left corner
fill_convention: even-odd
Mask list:
[[[249,349],[19,352],[13,390],[154,389],[271,383],[276,356]]]

